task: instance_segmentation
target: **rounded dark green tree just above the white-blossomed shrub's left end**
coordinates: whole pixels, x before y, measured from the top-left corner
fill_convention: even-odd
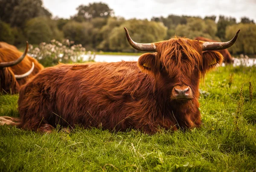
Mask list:
[[[58,30],[56,21],[48,17],[36,17],[29,20],[24,30],[29,43],[32,44],[50,42],[51,39],[63,39],[63,34]]]

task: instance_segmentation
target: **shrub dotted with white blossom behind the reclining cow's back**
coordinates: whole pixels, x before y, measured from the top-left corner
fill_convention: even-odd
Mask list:
[[[68,39],[64,39],[62,43],[53,39],[49,44],[41,42],[36,48],[29,45],[29,54],[35,57],[44,67],[54,66],[59,62],[83,62],[82,57],[85,54],[85,48],[81,44],[73,44],[74,42]],[[90,58],[90,60],[93,59]]]

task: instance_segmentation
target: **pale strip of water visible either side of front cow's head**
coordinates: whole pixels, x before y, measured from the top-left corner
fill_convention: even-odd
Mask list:
[[[96,62],[121,62],[123,61],[138,61],[140,56],[126,56],[126,55],[96,55],[95,56],[95,61]],[[88,59],[88,55],[83,56],[84,60]],[[225,64],[222,64],[225,66]],[[234,58],[234,64],[233,66],[239,66],[239,65],[244,65],[244,66],[252,66],[256,65],[256,59],[250,59],[250,58]]]

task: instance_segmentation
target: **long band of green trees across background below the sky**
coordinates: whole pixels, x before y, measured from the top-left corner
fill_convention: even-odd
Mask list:
[[[125,20],[116,17],[105,3],[89,3],[76,8],[70,19],[52,17],[42,0],[0,0],[0,41],[20,46],[55,39],[70,39],[87,50],[134,52],[126,41],[123,27],[136,42],[157,42],[173,36],[194,39],[201,36],[217,41],[231,39],[240,28],[232,54],[256,54],[256,25],[248,17],[237,22],[234,17],[220,15],[192,17],[169,15],[148,20]]]

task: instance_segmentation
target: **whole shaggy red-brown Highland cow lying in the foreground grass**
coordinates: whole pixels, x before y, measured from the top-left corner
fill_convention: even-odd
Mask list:
[[[223,61],[211,50],[232,46],[239,31],[229,42],[174,37],[148,44],[134,42],[125,31],[133,48],[155,53],[138,62],[46,68],[20,89],[20,118],[1,117],[2,124],[40,132],[59,124],[150,134],[199,127],[199,80]]]

